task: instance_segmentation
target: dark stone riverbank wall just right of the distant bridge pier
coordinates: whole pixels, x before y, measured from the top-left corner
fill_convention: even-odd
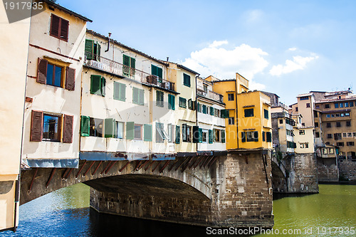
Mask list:
[[[339,181],[339,169],[335,158],[317,158],[318,181],[337,182]]]

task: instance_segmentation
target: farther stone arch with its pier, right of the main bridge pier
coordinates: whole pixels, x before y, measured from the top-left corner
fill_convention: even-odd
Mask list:
[[[319,192],[315,153],[285,154],[280,161],[276,156],[272,156],[271,165],[273,192],[308,194]]]

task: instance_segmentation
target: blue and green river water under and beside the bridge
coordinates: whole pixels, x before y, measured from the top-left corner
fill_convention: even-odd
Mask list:
[[[274,230],[298,230],[283,236],[356,236],[323,227],[356,227],[356,186],[320,185],[320,194],[276,196]],[[318,234],[319,228],[319,234]],[[306,233],[305,230],[312,230]],[[326,230],[328,231],[328,229]],[[281,233],[280,232],[280,233]],[[321,235],[323,233],[323,235]],[[4,236],[211,236],[206,228],[98,214],[89,208],[89,187],[75,184],[20,207],[19,228]],[[231,235],[230,235],[231,236]],[[237,235],[234,235],[237,236]],[[272,235],[266,235],[272,236]],[[281,235],[282,236],[282,235]]]

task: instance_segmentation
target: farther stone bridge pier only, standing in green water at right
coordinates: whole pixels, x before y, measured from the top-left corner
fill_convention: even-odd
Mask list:
[[[289,193],[318,193],[318,168],[315,153],[296,153],[286,160]]]

